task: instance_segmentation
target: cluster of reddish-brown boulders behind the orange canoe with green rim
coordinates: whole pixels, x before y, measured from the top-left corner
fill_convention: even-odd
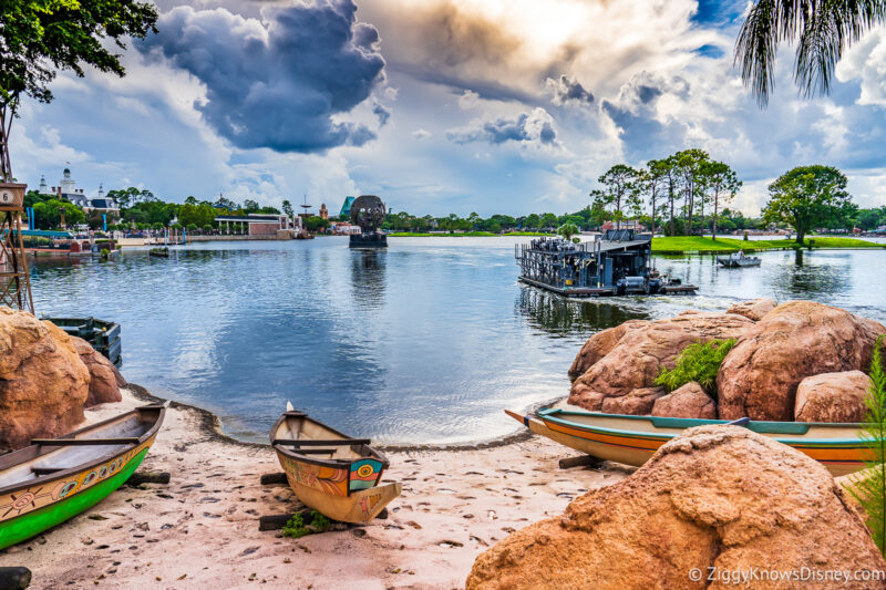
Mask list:
[[[812,301],[776,306],[771,299],[736,303],[725,313],[629,321],[594,334],[581,348],[569,369],[569,403],[612,414],[855,422],[866,392],[857,372],[869,369],[880,334],[883,324],[842,309]],[[686,346],[730,338],[736,344],[720,366],[715,400],[698,384],[669,395],[656,387],[656,376],[672,369]],[[837,375],[800,390],[804,380],[825,373]]]

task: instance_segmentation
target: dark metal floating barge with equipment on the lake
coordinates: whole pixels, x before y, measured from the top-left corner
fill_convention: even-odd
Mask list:
[[[652,235],[611,229],[583,244],[540,238],[517,244],[519,280],[565,297],[694,294],[698,287],[651,268]]]

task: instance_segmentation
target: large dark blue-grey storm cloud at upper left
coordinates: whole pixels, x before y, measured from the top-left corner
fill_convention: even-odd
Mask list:
[[[237,147],[359,146],[375,133],[340,116],[384,80],[384,60],[378,30],[357,22],[356,12],[352,0],[266,8],[261,21],[177,7],[161,15],[157,35],[136,46],[199,80],[206,100],[195,107]]]

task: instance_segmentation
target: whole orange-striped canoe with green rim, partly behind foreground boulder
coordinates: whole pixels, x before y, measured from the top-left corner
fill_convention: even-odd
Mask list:
[[[729,424],[724,420],[628,416],[597,412],[542,410],[537,416],[505,411],[536,434],[600,459],[640,466],[686,428]],[[796,448],[822,463],[834,477],[866,467],[861,424],[751,421],[744,427]]]

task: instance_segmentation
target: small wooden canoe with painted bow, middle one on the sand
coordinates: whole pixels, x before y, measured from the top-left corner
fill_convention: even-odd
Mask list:
[[[400,484],[379,485],[389,463],[369,439],[351,438],[289,403],[270,443],[298,499],[332,520],[369,522],[400,495]]]

